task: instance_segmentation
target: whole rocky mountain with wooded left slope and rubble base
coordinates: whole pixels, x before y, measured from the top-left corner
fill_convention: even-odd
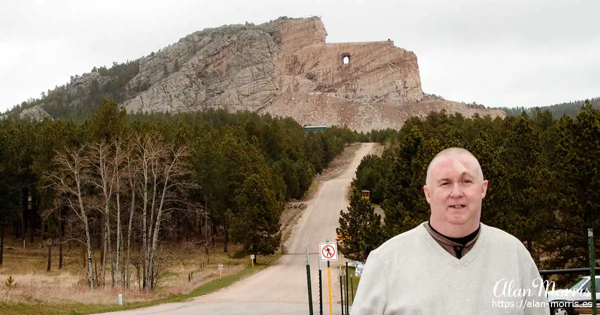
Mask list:
[[[207,28],[148,56],[73,76],[9,114],[81,119],[110,97],[128,113],[251,110],[357,131],[397,128],[431,110],[506,115],[425,94],[415,53],[394,41],[326,43],[326,36],[318,17]]]

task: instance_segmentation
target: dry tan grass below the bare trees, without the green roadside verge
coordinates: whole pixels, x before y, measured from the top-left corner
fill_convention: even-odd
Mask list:
[[[19,246],[20,245],[20,246]],[[160,254],[167,257],[155,292],[143,292],[137,285],[136,268],[130,266],[131,289],[110,287],[110,270],[107,269],[107,286],[94,290],[86,282],[86,269],[83,266],[83,247],[73,246],[63,250],[63,268],[58,268],[58,249],[53,248],[52,269],[47,272],[47,248],[40,244],[7,239],[4,263],[0,266],[0,302],[56,302],[112,304],[119,293],[125,302],[143,302],[187,294],[202,284],[218,280],[218,264],[223,264],[223,277],[233,275],[251,266],[249,257],[235,258],[235,245],[229,245],[229,253],[223,253],[223,245],[217,242],[209,248],[193,249],[193,245],[163,245]],[[100,251],[95,251],[95,257]],[[273,259],[258,257],[259,263]],[[98,262],[98,268],[101,262]],[[101,275],[100,275],[101,277]],[[193,278],[192,278],[193,277]],[[13,280],[9,287],[8,279]]]

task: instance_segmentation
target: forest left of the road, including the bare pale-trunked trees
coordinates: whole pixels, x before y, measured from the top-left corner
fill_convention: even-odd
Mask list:
[[[0,265],[17,263],[3,262],[5,236],[41,238],[61,255],[80,244],[89,287],[129,287],[136,264],[139,286],[152,290],[163,241],[220,238],[224,252],[235,242],[239,255],[274,254],[286,202],[346,145],[370,137],[385,133],[305,132],[289,118],[221,110],[126,115],[108,98],[83,122],[5,119]]]

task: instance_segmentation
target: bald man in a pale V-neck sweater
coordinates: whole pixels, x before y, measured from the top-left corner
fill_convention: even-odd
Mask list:
[[[439,152],[423,187],[430,220],[371,251],[350,315],[550,314],[523,243],[480,221],[487,187],[471,152]]]

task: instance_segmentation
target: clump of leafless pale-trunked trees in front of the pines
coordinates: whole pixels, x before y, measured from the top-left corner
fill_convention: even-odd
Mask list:
[[[172,232],[170,224],[176,221],[172,220],[173,212],[203,215],[204,209],[188,196],[196,187],[191,180],[188,155],[187,147],[172,145],[152,133],[127,140],[101,140],[57,153],[56,167],[47,175],[52,188],[61,196],[55,209],[67,205],[85,229],[92,289],[106,285],[107,269],[112,287],[119,286],[121,277],[120,286],[130,287],[130,264],[134,263],[138,274],[139,269],[142,272],[137,279],[141,282],[140,289],[154,290],[160,266],[172,260],[160,257],[157,248],[163,235]],[[89,232],[90,212],[94,209],[104,219],[104,251],[98,270],[94,270],[92,263]],[[122,209],[129,211],[126,264],[122,255]],[[131,244],[134,231],[139,231],[142,237],[140,253]],[[112,242],[113,235],[116,235],[116,244]],[[115,251],[116,261],[113,259]]]

